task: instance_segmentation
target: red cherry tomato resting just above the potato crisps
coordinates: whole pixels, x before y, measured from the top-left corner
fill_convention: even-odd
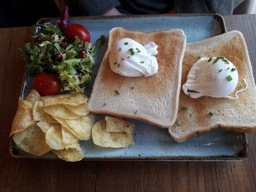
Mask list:
[[[58,79],[47,73],[37,74],[33,79],[33,88],[40,95],[54,95],[60,90]]]

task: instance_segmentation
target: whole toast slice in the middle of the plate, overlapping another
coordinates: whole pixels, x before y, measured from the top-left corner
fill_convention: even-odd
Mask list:
[[[150,77],[124,77],[109,67],[109,52],[120,38],[132,38],[142,45],[155,42],[159,70]],[[113,28],[109,32],[108,49],[100,64],[89,99],[90,111],[132,118],[170,127],[179,108],[182,59],[186,36],[181,29],[132,31]],[[118,91],[119,94],[116,94]]]

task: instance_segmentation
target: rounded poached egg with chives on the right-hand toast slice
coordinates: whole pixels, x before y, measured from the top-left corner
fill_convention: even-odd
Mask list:
[[[237,99],[229,96],[236,89],[237,83],[237,68],[231,61],[225,57],[202,57],[189,70],[182,90],[194,99],[203,96]]]

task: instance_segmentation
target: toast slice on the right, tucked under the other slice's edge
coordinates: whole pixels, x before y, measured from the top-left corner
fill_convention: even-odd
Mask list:
[[[209,58],[225,56],[237,67],[239,83],[236,90],[241,89],[243,78],[246,79],[248,88],[238,94],[237,100],[212,97],[191,99],[184,94],[183,90],[180,90],[177,116],[179,123],[168,129],[172,138],[183,142],[197,133],[208,132],[217,127],[227,131],[256,132],[256,88],[242,33],[230,31],[200,42],[187,44],[182,63],[182,85],[186,82],[188,72],[198,56]],[[212,116],[209,115],[210,112]]]

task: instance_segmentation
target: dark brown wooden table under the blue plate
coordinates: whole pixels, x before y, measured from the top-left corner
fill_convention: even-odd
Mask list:
[[[244,34],[255,76],[256,15],[224,18],[228,31]],[[249,152],[243,161],[66,163],[13,158],[8,135],[26,65],[18,48],[32,33],[31,27],[0,29],[0,191],[255,191],[256,134],[248,134]]]

